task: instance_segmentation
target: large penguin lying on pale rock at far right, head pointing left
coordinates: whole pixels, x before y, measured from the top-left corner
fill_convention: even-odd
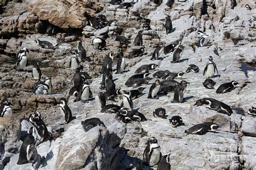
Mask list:
[[[203,104],[206,105],[206,108],[217,110],[221,114],[226,114],[228,116],[233,114],[233,111],[230,108],[230,106],[223,102],[217,101],[214,98],[202,98],[201,100],[198,100],[194,105],[199,106]]]

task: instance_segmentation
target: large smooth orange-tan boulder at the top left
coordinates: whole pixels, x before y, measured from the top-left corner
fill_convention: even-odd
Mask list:
[[[95,13],[102,8],[99,3],[89,1],[54,0],[49,3],[47,0],[39,0],[31,12],[62,29],[83,29],[87,24],[85,16],[95,17]]]

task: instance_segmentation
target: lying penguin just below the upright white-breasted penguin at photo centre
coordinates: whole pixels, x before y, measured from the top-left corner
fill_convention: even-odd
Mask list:
[[[128,110],[127,108],[123,107],[119,110],[119,113],[124,115],[125,117],[129,117],[132,121],[138,121],[138,122],[147,121],[146,117],[137,110]]]

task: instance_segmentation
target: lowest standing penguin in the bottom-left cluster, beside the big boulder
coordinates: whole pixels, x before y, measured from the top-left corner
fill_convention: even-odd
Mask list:
[[[36,127],[29,129],[29,136],[23,141],[19,150],[19,159],[17,165],[32,162],[33,168],[37,169],[41,165],[41,157],[37,154],[36,141],[38,132]]]

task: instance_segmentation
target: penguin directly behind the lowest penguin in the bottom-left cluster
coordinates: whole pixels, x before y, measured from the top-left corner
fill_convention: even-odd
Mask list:
[[[48,134],[48,129],[41,119],[41,114],[38,111],[35,111],[33,114],[29,115],[29,122],[36,127],[38,131],[38,140],[43,142],[46,140],[51,140],[52,138]]]

